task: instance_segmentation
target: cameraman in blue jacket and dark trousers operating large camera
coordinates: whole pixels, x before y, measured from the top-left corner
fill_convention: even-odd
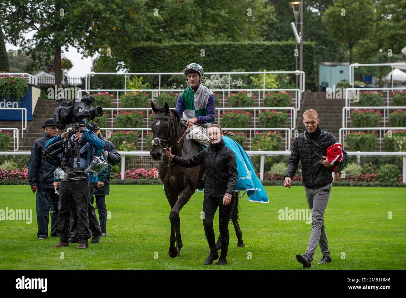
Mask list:
[[[92,161],[94,154],[101,156],[104,155],[104,141],[99,139],[92,131],[88,130],[83,126],[78,127],[78,132],[75,135],[71,135],[69,142],[72,148],[76,148],[79,145],[81,154],[81,160],[85,162],[80,162],[80,168],[86,168]],[[48,140],[45,143],[45,148],[48,147],[62,139],[68,139],[69,133],[63,133],[57,137]],[[66,150],[66,149],[65,149]],[[73,158],[73,157],[71,157]],[[76,169],[77,170],[77,169]],[[76,215],[78,217],[78,239],[79,246],[77,249],[86,249],[88,244],[88,239],[91,237],[89,231],[89,215],[88,215],[88,202],[91,183],[97,182],[97,177],[86,174],[86,180],[63,180],[62,182],[54,181],[54,188],[59,187],[59,215],[60,219],[58,221],[58,232],[60,233],[60,242],[54,247],[65,247],[69,245],[69,219],[70,219],[70,202],[76,210]],[[102,181],[103,183],[103,181]]]

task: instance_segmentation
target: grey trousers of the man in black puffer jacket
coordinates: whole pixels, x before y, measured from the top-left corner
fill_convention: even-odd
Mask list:
[[[306,198],[311,212],[311,234],[304,255],[313,260],[317,244],[319,244],[322,254],[330,256],[326,229],[324,228],[324,210],[326,210],[330,198],[331,183],[319,188],[310,189],[304,187],[304,189],[306,190]]]

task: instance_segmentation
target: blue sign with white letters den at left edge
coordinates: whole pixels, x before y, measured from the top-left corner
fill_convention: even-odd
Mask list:
[[[0,107],[25,107],[27,109],[27,120],[32,120],[32,87],[28,87],[28,92],[24,97],[17,101],[16,99],[0,98]],[[4,110],[0,109],[0,120],[21,121],[23,110]]]

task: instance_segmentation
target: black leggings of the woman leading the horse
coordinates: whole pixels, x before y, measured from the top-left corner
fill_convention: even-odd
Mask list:
[[[223,256],[226,256],[228,251],[228,244],[230,241],[228,226],[231,214],[233,213],[234,204],[234,195],[231,197],[231,202],[227,206],[223,205],[223,195],[216,195],[215,197],[205,195],[203,199],[203,227],[210,249],[216,249],[213,218],[217,208],[219,208],[218,229],[220,230],[221,237],[221,255]]]

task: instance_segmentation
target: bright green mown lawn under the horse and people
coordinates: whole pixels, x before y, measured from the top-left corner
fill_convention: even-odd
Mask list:
[[[280,221],[278,210],[308,208],[304,187],[265,189],[268,204],[248,202],[246,196],[240,202],[246,247],[237,247],[230,225],[229,265],[205,266],[202,193],[195,193],[180,212],[184,247],[180,257],[172,259],[168,256],[170,207],[162,185],[112,185],[106,197],[111,212],[107,237],[97,244],[89,242],[86,250],[75,249],[77,244],[54,248],[55,237],[39,240],[35,194],[29,186],[2,185],[0,209],[32,209],[32,223],[0,221],[0,269],[303,269],[296,253],[306,251],[311,225]],[[333,262],[317,265],[322,258],[317,247],[313,266],[307,270],[406,269],[404,188],[333,187],[324,221]],[[218,213],[214,230],[217,237]]]

